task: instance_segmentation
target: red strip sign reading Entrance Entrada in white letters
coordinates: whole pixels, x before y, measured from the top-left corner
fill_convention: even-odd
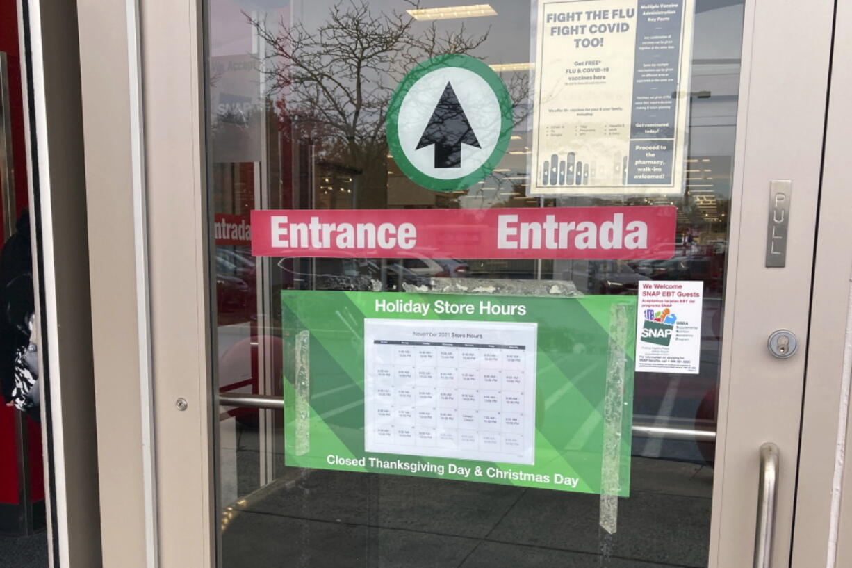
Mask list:
[[[671,258],[677,208],[251,212],[258,257]]]

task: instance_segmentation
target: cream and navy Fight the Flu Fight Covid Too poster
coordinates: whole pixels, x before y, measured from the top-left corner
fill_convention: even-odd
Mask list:
[[[680,194],[693,0],[541,0],[535,196]]]

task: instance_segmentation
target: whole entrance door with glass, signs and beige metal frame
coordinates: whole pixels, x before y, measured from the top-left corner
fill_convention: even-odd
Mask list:
[[[832,8],[799,4],[204,3],[211,436],[158,442],[164,522],[224,567],[745,566],[772,442],[789,556],[828,45],[787,34]]]

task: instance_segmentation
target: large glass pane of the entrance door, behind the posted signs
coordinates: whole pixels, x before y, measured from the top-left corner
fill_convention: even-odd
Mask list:
[[[645,4],[542,3],[538,14],[537,6],[514,1],[469,9],[293,2],[252,11],[230,0],[210,2],[208,148],[217,323],[213,345],[216,384],[227,393],[224,399],[233,401],[233,406],[222,407],[218,425],[222,566],[707,565],[744,10],[741,3],[674,3],[674,9],[660,16]],[[587,17],[583,10],[592,9],[613,20]],[[578,12],[573,23],[562,23],[562,16],[573,18]],[[642,29],[617,32],[631,34],[618,49],[579,48],[573,55],[575,60],[600,58],[598,62],[566,63],[550,54],[550,49],[573,48],[573,41],[559,41],[551,34],[577,32],[583,41],[621,41],[617,33],[590,35],[578,26],[596,29],[615,22],[620,30],[623,24],[652,26],[657,18],[667,20],[658,26],[670,43],[666,51],[674,52],[667,59],[661,57],[666,51],[650,49],[653,55],[647,61],[620,63],[629,69],[594,71],[619,65],[625,58],[619,49],[628,43],[632,56],[634,45],[664,41],[652,39],[650,32],[642,40]],[[531,46],[537,44],[535,53]],[[429,181],[417,177],[417,167],[400,156],[406,150],[394,148],[389,131],[394,129],[398,85],[411,77],[406,73],[445,54],[484,63],[508,95],[510,125],[504,132],[508,147],[486,175],[436,191],[423,187]],[[671,73],[671,83],[659,78],[665,74],[660,69]],[[579,78],[555,90],[567,72],[577,72]],[[630,76],[617,77],[619,72]],[[644,72],[645,78],[637,83],[634,72]],[[595,74],[609,77],[596,79]],[[638,180],[640,171],[650,169],[642,164],[658,160],[627,153],[622,159],[608,149],[596,150],[595,144],[612,143],[613,136],[581,131],[623,130],[627,125],[619,121],[625,118],[637,122],[629,112],[625,117],[624,112],[601,107],[619,101],[629,109],[630,92],[620,90],[653,84],[642,81],[654,78],[667,89],[658,97],[662,102],[651,95],[659,90],[640,95],[636,87],[633,113],[659,114],[649,120],[671,125],[667,135],[648,136],[673,139],[650,142],[667,148],[668,157],[660,162],[672,178],[666,187],[623,183],[622,174],[625,180]],[[596,86],[602,81],[609,84]],[[548,89],[557,95],[534,92]],[[471,95],[453,96],[462,107],[469,101],[476,104]],[[607,98],[590,98],[596,96]],[[437,102],[439,110],[442,104],[452,104],[445,99]],[[646,100],[655,101],[659,111],[642,111]],[[406,104],[411,103],[402,102]],[[542,106],[538,112],[536,104]],[[547,116],[561,111],[573,113],[572,118]],[[401,122],[406,111],[395,112]],[[441,127],[452,130],[452,119],[441,117]],[[567,148],[556,136],[568,133],[554,132],[567,128],[584,149],[578,148],[576,161],[573,152],[562,157],[568,161],[558,170],[554,166],[555,180],[535,183],[542,175],[535,160],[550,159],[549,151],[539,146]],[[543,141],[547,134],[553,134],[549,142]],[[461,149],[461,159],[467,151]],[[584,159],[583,152],[591,157]],[[621,171],[628,159],[636,165]],[[560,183],[561,177],[573,179]],[[479,215],[483,210],[518,214],[544,208],[570,214],[579,207],[602,212],[611,208],[617,215],[630,215],[630,208],[664,215],[671,211],[671,226],[660,243],[668,252],[636,255],[625,250],[605,259],[585,254],[573,258],[546,249],[496,259],[487,258],[485,251],[457,258],[424,252],[408,258],[277,253],[259,258],[252,255],[248,235],[242,241],[233,239],[250,224],[252,210],[341,211],[348,216],[334,218],[349,221],[355,218],[349,212],[378,209],[393,222],[424,210]],[[456,217],[447,215],[448,223],[451,218]],[[292,235],[295,229],[290,230]],[[445,230],[458,229],[448,224]],[[258,240],[257,233],[253,238]],[[404,325],[417,317],[378,323],[371,321],[376,314],[368,313],[365,323],[354,308],[361,307],[360,295],[343,299],[360,291],[369,301],[385,295],[389,301],[407,301],[406,293],[417,291],[412,295],[417,302],[435,305],[440,299],[434,298],[454,292],[450,301],[463,305],[463,296],[482,297],[473,295],[477,288],[489,291],[485,298],[497,294],[503,307],[518,304],[530,310],[530,316],[509,325],[538,318],[538,341],[556,343],[539,347],[538,369],[531,359],[520,369],[521,377],[538,374],[537,384],[527,381],[518,387],[520,397],[536,399],[523,412],[515,414],[507,407],[515,396],[507,390],[512,388],[507,381],[513,379],[514,367],[501,350],[473,346],[478,341],[452,340],[365,345],[372,333],[383,339],[395,334],[415,339],[417,333],[408,333]],[[557,293],[551,293],[554,288]],[[620,409],[613,426],[604,398],[610,392],[605,386],[607,358],[614,356],[611,345],[599,343],[589,329],[597,324],[585,322],[588,313],[575,313],[573,306],[578,297],[625,298],[624,304],[604,302],[601,309],[626,308],[630,323],[625,325],[631,327],[627,334],[633,335],[640,290],[647,298],[642,312],[653,312],[640,329],[671,331],[678,317],[693,329],[676,339],[688,343],[677,362],[656,361],[658,353],[667,351],[661,346],[646,350],[648,359],[639,367],[632,352],[635,342],[630,341],[631,352],[619,362],[622,374],[627,374],[620,379],[625,392],[616,394],[624,399],[622,406],[631,406],[632,427],[621,427],[630,413]],[[662,298],[660,291],[666,297],[669,291],[694,294],[699,301],[652,300]],[[551,297],[539,299],[543,294]],[[335,307],[321,310],[317,302]],[[578,322],[542,321],[547,310],[564,310],[562,316]],[[321,316],[311,315],[317,312]],[[606,316],[604,325],[614,325]],[[640,316],[645,318],[644,313]],[[352,321],[338,326],[338,318]],[[464,319],[481,320],[481,313]],[[421,325],[427,326],[431,339],[467,333],[487,337],[498,333],[494,328],[500,325],[486,318],[472,324],[475,331],[456,333],[463,330],[457,320],[428,319]],[[377,326],[375,332],[371,325]],[[300,345],[300,334],[305,333],[314,339]],[[340,338],[343,344],[365,345],[364,351],[338,344],[332,333],[347,336]],[[519,341],[530,347],[526,340],[511,342]],[[653,344],[638,348],[644,345]],[[309,351],[308,362],[299,361],[300,349]],[[400,362],[406,354],[412,363]],[[445,358],[468,355],[473,359],[469,371],[463,362],[441,366]],[[498,360],[493,365],[492,357]],[[544,359],[558,370],[551,372]],[[371,368],[373,362],[376,368]],[[648,370],[634,374],[634,368]],[[370,385],[373,372],[391,375],[387,385],[381,376]],[[417,376],[409,380],[410,373]],[[301,380],[309,385],[300,386]],[[464,388],[467,385],[471,387]],[[300,389],[306,392],[303,399]],[[259,398],[244,398],[244,392],[262,395],[268,408],[275,409],[241,407]],[[438,400],[429,402],[429,397]],[[288,404],[291,398],[296,402]],[[417,400],[410,403],[410,398]],[[420,402],[423,398],[425,403]],[[487,420],[491,406],[500,421],[494,432],[473,423]],[[288,413],[308,413],[310,418],[293,420]],[[523,432],[527,426],[534,429],[529,438]],[[612,427],[618,431],[609,432]],[[333,433],[324,436],[326,429]],[[363,430],[365,441],[348,436],[352,429]],[[602,464],[607,467],[605,456],[599,454],[613,434],[624,434],[626,447],[616,450],[615,473],[620,469],[629,481],[619,483],[616,477],[614,488],[607,489],[601,470]],[[533,435],[538,436],[534,456],[513,458],[501,451],[509,443],[523,446]],[[406,442],[409,436],[413,442]],[[372,451],[366,449],[370,444]],[[495,449],[489,450],[492,446]],[[347,465],[350,461],[354,467]],[[495,466],[505,462],[514,465]],[[308,465],[314,467],[304,467]],[[412,466],[423,470],[402,469]],[[483,474],[476,477],[479,467]],[[607,491],[615,496],[602,495]],[[630,497],[619,498],[619,493]]]

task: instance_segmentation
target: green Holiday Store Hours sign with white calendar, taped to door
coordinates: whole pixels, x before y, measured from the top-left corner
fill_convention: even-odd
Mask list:
[[[629,494],[636,298],[281,303],[287,466]]]

